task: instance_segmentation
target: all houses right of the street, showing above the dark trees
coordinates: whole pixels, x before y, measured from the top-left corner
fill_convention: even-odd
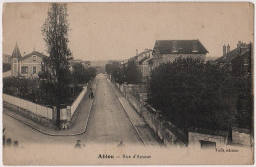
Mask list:
[[[221,68],[229,71],[250,71],[251,69],[251,46],[241,41],[237,47],[231,50],[230,45],[223,46],[223,55],[210,63],[218,64]],[[161,63],[173,62],[177,58],[195,58],[206,62],[208,50],[199,40],[156,40],[153,49],[145,49],[130,59],[123,60],[120,65],[125,67],[129,60],[134,60],[141,70],[145,81],[150,71],[158,67]]]

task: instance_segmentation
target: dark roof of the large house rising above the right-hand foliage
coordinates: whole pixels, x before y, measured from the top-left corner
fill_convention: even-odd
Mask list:
[[[176,45],[177,52],[173,50]],[[197,52],[193,52],[194,45]],[[199,40],[156,40],[153,53],[158,49],[160,54],[206,54],[208,51]]]

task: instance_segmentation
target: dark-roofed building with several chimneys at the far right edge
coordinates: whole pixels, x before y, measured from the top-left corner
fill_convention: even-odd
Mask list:
[[[223,46],[223,55],[216,59],[215,62],[221,68],[234,73],[251,72],[251,46],[241,41],[238,42],[237,47],[230,49],[229,44]],[[227,48],[227,49],[226,49]]]

